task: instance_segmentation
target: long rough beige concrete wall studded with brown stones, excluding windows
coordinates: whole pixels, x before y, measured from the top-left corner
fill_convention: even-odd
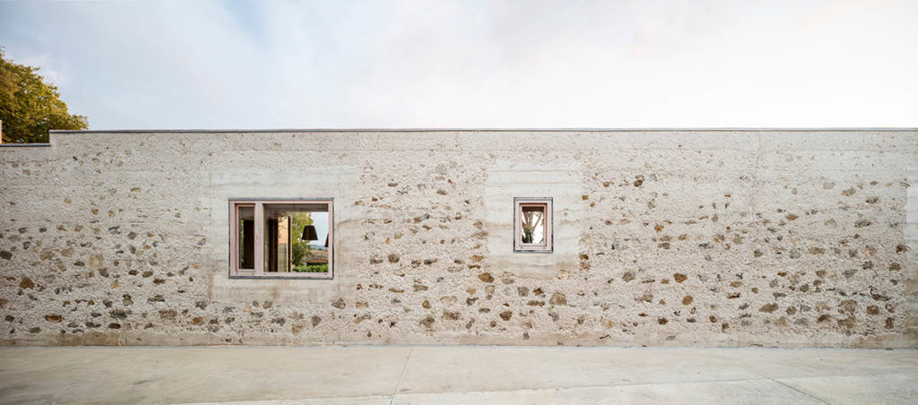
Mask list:
[[[918,346],[916,130],[50,143],[0,148],[3,344]],[[229,279],[230,197],[334,197],[334,279]]]

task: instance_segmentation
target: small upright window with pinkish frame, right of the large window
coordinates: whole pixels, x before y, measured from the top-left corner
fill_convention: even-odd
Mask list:
[[[513,251],[552,253],[552,198],[513,198]]]

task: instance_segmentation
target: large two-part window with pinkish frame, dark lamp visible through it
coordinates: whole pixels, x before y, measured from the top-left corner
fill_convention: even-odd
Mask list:
[[[230,200],[229,276],[331,278],[331,203]]]

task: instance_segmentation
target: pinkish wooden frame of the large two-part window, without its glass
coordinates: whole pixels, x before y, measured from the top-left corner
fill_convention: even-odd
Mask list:
[[[264,205],[265,204],[324,204],[329,208],[329,271],[328,273],[265,273],[264,272]],[[254,207],[255,268],[239,268],[239,209]],[[230,198],[229,199],[229,278],[312,279],[334,278],[334,198]],[[296,232],[295,232],[296,234]]]

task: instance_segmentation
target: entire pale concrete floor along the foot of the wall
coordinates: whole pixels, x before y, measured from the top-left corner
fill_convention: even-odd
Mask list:
[[[918,403],[918,351],[0,349],[0,402]]]

